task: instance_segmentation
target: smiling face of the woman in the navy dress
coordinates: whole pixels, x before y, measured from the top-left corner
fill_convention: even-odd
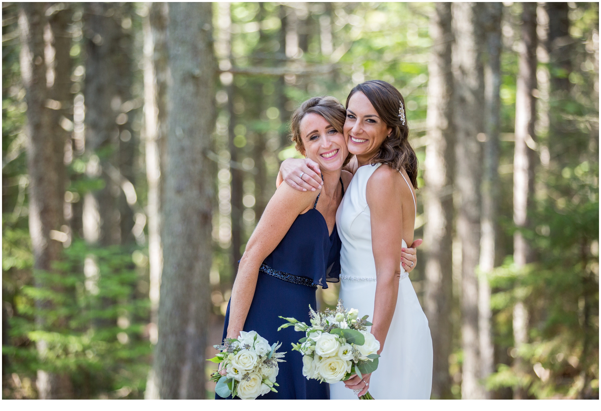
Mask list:
[[[340,170],[349,154],[344,134],[316,113],[308,113],[301,120],[300,128],[305,151],[302,154],[319,164],[322,170]]]

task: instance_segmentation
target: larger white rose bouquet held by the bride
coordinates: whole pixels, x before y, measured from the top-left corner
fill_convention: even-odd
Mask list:
[[[280,317],[288,322],[278,328],[294,326],[295,331],[304,331],[305,337],[292,349],[303,355],[302,374],[307,379],[316,379],[330,384],[344,381],[357,374],[372,373],[378,365],[380,343],[373,334],[367,332],[371,325],[364,316],[359,319],[359,311],[351,308],[346,311],[342,300],[338,300],[335,310],[323,313],[309,306],[311,325],[294,318]],[[367,392],[361,400],[373,400]]]

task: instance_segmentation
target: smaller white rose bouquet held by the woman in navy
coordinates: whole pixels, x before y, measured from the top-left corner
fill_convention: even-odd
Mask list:
[[[254,400],[259,395],[276,391],[278,386],[278,362],[284,362],[284,353],[276,352],[282,344],[269,342],[255,331],[240,331],[240,337],[225,338],[223,344],[213,346],[219,351],[207,360],[221,364],[221,370],[211,374],[215,381],[215,392],[219,397],[239,397],[241,400]]]

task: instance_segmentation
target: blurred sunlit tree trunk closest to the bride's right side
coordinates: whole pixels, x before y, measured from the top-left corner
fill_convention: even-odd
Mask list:
[[[452,253],[453,242],[453,72],[451,52],[451,4],[436,3],[430,17],[434,43],[428,66],[428,145],[426,146],[427,215],[424,240],[426,260],[426,315],[432,333],[434,369],[432,397],[451,398],[448,358],[451,353]]]

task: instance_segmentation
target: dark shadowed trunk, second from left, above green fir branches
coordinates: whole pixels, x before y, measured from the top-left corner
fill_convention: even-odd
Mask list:
[[[88,165],[90,176],[103,178],[105,187],[84,199],[84,221],[94,218],[90,214],[97,209],[100,227],[96,235],[88,233],[88,241],[98,238],[100,245],[120,244],[120,202],[119,178],[114,170],[119,161],[119,142],[121,136],[121,105],[129,94],[123,86],[121,73],[130,70],[130,56],[123,40],[119,9],[111,3],[86,3],[85,28],[85,145],[89,155],[96,155],[99,167]],[[127,43],[127,41],[125,41]],[[115,150],[115,148],[117,150]],[[111,176],[112,173],[112,176]],[[126,219],[127,216],[121,216]],[[85,223],[84,223],[85,225]],[[94,231],[91,229],[91,231]]]

